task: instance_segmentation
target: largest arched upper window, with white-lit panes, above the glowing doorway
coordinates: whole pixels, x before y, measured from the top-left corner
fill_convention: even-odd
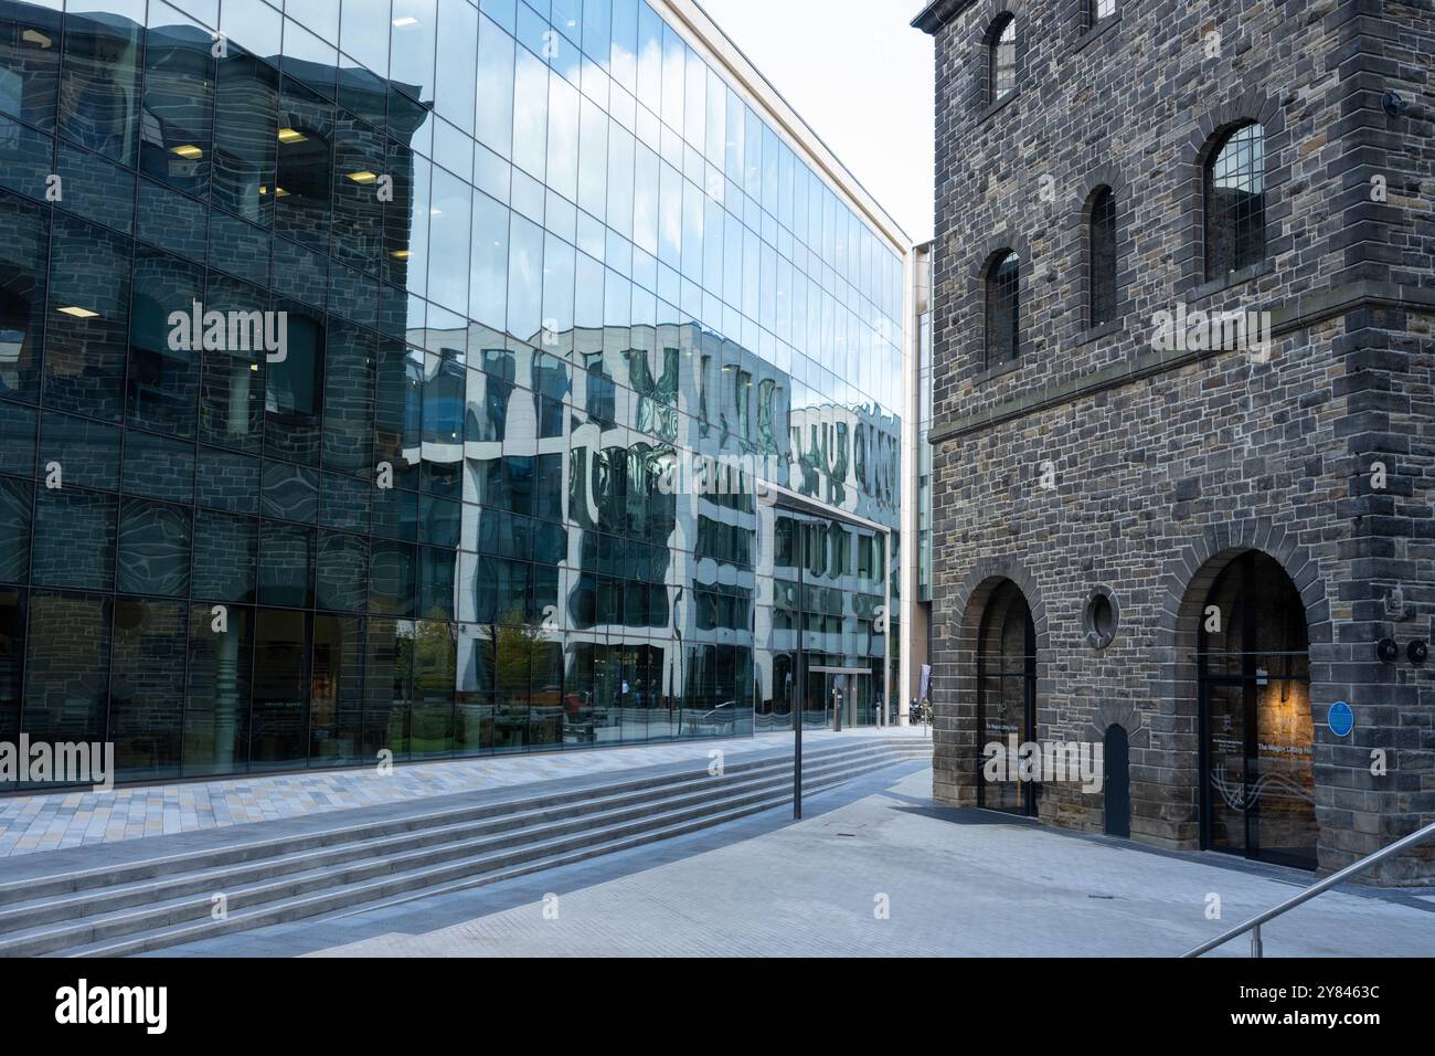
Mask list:
[[[1266,129],[1225,135],[1205,162],[1205,277],[1221,279],[1266,259]]]

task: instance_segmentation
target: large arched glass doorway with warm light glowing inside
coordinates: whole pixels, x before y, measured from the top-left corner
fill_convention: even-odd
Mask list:
[[[1314,726],[1306,606],[1247,550],[1200,615],[1201,846],[1316,868]]]

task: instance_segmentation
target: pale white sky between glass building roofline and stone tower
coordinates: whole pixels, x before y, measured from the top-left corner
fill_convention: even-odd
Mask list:
[[[699,0],[911,237],[933,231],[933,46],[923,0]]]

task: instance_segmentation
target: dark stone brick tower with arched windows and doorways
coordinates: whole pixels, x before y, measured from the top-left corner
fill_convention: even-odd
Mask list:
[[[937,799],[1322,871],[1431,823],[1435,9],[914,24]],[[1102,792],[986,780],[1012,734],[1104,741]],[[1432,876],[1426,846],[1376,878]]]

